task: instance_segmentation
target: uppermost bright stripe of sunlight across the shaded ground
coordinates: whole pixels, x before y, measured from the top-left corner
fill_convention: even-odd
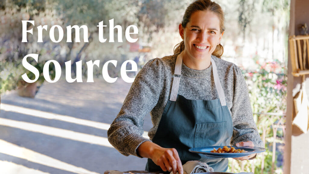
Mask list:
[[[110,124],[107,124],[107,123],[100,123],[100,122],[91,121],[91,120],[84,120],[84,119],[79,119],[79,118],[75,118],[75,117],[71,117],[67,115],[54,114],[51,112],[39,111],[35,109],[29,109],[25,107],[19,107],[19,106],[4,104],[4,103],[0,104],[0,108],[3,111],[16,112],[20,114],[31,115],[31,116],[45,118],[45,119],[60,120],[60,121],[65,121],[69,123],[80,124],[80,125],[89,126],[93,128],[103,129],[103,130],[108,130],[108,128],[111,126]],[[147,131],[144,131],[143,137],[149,139]]]

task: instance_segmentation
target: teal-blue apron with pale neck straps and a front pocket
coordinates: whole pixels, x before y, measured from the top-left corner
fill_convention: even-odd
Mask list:
[[[219,98],[189,100],[178,94],[182,54],[178,55],[170,99],[167,101],[152,141],[164,148],[175,148],[182,164],[199,160],[214,168],[215,172],[225,172],[228,167],[227,158],[207,157],[188,151],[193,147],[230,145],[233,133],[231,114],[226,106],[217,67],[212,58],[211,64]],[[147,161],[146,171],[163,172],[151,159]]]

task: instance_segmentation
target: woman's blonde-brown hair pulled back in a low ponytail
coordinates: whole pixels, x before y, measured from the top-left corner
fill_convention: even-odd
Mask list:
[[[184,12],[184,17],[182,18],[181,25],[183,28],[186,27],[188,22],[190,21],[190,17],[195,11],[205,11],[209,10],[216,14],[220,20],[220,33],[223,33],[224,28],[224,12],[219,4],[216,2],[212,2],[210,0],[197,0],[191,3],[186,11]],[[184,41],[181,41],[174,47],[174,54],[181,53],[184,50]],[[223,46],[221,44],[217,45],[216,49],[212,53],[212,55],[220,58],[223,54]]]

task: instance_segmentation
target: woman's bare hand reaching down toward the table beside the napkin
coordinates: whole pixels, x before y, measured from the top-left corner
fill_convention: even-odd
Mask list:
[[[163,148],[153,142],[145,141],[137,149],[138,154],[145,158],[150,158],[156,165],[166,171],[173,171],[176,174],[183,174],[184,170],[178,152],[175,148]]]

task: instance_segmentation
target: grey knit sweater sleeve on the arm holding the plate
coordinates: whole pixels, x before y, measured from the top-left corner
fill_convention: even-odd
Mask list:
[[[231,144],[242,141],[252,141],[257,147],[264,147],[260,134],[257,131],[256,123],[249,99],[247,84],[239,67],[234,65],[234,96],[231,108],[233,120],[233,135]]]

